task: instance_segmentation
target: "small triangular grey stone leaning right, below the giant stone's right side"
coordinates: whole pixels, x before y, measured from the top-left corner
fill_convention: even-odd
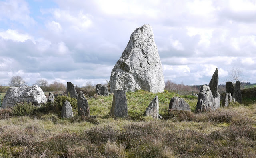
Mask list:
[[[144,112],[144,116],[152,116],[152,118],[158,118],[159,116],[159,101],[158,96],[150,102],[148,108]]]

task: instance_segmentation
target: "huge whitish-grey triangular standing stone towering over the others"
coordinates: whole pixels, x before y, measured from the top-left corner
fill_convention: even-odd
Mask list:
[[[131,35],[122,56],[110,76],[110,92],[114,90],[164,91],[164,75],[152,27],[143,25]]]

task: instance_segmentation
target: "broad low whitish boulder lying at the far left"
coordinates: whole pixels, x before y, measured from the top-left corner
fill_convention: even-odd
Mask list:
[[[47,98],[44,92],[37,85],[10,87],[2,102],[2,108],[12,107],[18,102],[31,102],[34,105],[44,104]]]

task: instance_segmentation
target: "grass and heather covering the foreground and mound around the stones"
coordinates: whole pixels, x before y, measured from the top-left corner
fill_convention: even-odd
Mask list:
[[[142,116],[155,95],[162,120]],[[142,90],[126,96],[127,119],[109,115],[113,95],[88,98],[90,114],[96,115],[91,117],[80,117],[74,110],[74,118],[60,118],[54,109],[67,96],[34,110],[29,103],[18,104],[16,113],[0,109],[0,157],[256,157],[256,104],[252,100],[194,113],[194,96]],[[168,111],[174,96],[184,98],[192,112]]]

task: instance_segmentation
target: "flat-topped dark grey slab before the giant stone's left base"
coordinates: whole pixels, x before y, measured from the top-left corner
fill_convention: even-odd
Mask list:
[[[114,91],[110,114],[122,118],[126,118],[128,116],[125,90]]]

